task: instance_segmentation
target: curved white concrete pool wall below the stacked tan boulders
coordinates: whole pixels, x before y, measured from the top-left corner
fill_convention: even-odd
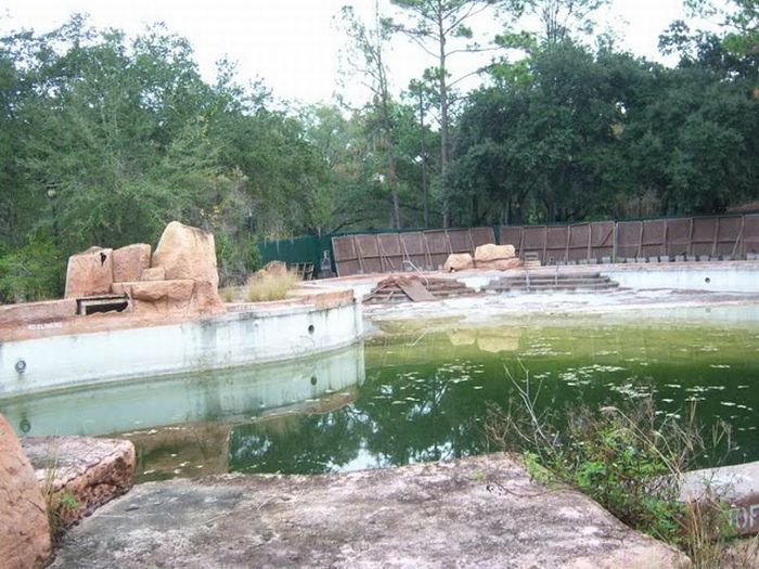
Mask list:
[[[0,398],[114,380],[288,360],[363,334],[350,290],[164,320],[75,316],[27,324],[0,341]]]

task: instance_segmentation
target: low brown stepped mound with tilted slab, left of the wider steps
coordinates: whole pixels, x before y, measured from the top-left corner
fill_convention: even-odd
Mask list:
[[[425,294],[426,293],[426,294]],[[427,294],[429,296],[427,296]],[[420,275],[394,275],[377,283],[363,299],[364,305],[387,305],[442,300],[445,298],[472,296],[477,290],[452,279],[434,279]]]

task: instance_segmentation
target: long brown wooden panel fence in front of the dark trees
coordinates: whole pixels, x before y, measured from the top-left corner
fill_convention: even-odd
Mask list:
[[[337,274],[364,274],[441,267],[451,253],[474,254],[493,243],[491,228],[345,235],[332,238]],[[512,225],[499,229],[499,243],[514,245],[518,257],[535,253],[544,263],[601,262],[679,256],[743,259],[759,255],[759,215],[596,221],[571,225]]]

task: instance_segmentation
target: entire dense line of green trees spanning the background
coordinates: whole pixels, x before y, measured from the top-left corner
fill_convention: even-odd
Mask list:
[[[56,296],[72,253],[155,243],[172,219],[214,231],[222,279],[240,280],[261,238],[712,214],[758,197],[754,0],[724,13],[691,0],[723,28],[673,23],[661,49],[674,68],[603,37],[590,47],[600,0],[393,3],[370,25],[343,13],[350,73],[372,92],[361,108],[286,105],[227,62],[204,80],[160,25],[128,38],[74,16],[0,38],[0,299]],[[485,10],[504,21],[492,41],[468,27]],[[541,27],[523,29],[524,13]],[[384,50],[403,36],[436,59],[395,96]],[[510,56],[456,91],[447,57],[485,43]]]

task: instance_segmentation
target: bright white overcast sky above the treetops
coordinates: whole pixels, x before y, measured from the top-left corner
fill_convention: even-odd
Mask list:
[[[237,62],[241,79],[261,77],[279,99],[314,103],[339,89],[338,53],[345,40],[333,18],[346,3],[369,14],[373,0],[3,0],[0,34],[20,28],[49,31],[74,12],[90,14],[97,27],[128,34],[163,21],[190,40],[206,78],[213,79],[215,62],[226,54]],[[381,3],[389,5],[388,0]],[[658,36],[682,17],[682,0],[613,0],[602,27],[622,37],[622,48],[661,61]],[[401,38],[394,46],[390,75],[400,90],[433,61]],[[455,75],[455,62],[451,67]],[[355,83],[348,87],[353,95]]]

